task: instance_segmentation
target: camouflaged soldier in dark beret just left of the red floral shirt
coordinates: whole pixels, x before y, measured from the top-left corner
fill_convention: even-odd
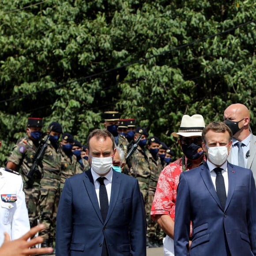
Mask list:
[[[150,137],[147,144],[147,158],[149,161],[151,176],[148,184],[148,208],[147,213],[147,242],[148,247],[162,246],[162,238],[164,233],[160,229],[157,223],[155,223],[151,217],[151,206],[154,200],[154,193],[156,191],[159,175],[162,171],[161,160],[158,157],[158,151],[160,147],[160,140],[157,137]]]

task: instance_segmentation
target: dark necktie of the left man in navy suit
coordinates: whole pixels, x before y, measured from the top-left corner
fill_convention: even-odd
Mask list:
[[[100,183],[100,190],[99,190],[99,198],[100,198],[100,208],[101,208],[101,214],[103,218],[103,222],[105,222],[105,219],[108,214],[109,210],[109,200],[108,200],[108,193],[106,190],[106,186],[104,184],[105,177],[99,177],[97,181]],[[103,245],[102,245],[102,256],[108,256],[108,250],[106,246],[106,240],[104,238]]]

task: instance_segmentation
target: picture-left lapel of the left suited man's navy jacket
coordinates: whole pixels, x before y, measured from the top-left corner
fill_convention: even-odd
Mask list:
[[[85,185],[85,189],[87,191],[88,197],[90,198],[91,204],[93,205],[94,210],[96,211],[96,213],[98,215],[98,218],[103,223],[102,214],[100,211],[98,198],[97,198],[96,191],[95,191],[94,181],[93,181],[93,177],[91,175],[90,169],[85,172],[85,176],[83,178],[83,183]]]

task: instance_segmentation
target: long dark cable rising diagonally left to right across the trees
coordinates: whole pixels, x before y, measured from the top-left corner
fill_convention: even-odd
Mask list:
[[[220,36],[222,34],[226,34],[228,32],[236,30],[237,28],[240,28],[240,27],[243,27],[243,26],[247,26],[248,24],[255,23],[255,22],[256,22],[256,20],[251,20],[251,21],[248,21],[246,23],[242,23],[240,25],[234,26],[234,27],[232,27],[232,28],[230,28],[228,30],[225,30],[225,31],[222,31],[222,32],[219,32],[219,33],[216,33],[216,34],[213,34],[213,35],[210,35],[210,36],[198,39],[198,40],[193,41],[191,43],[187,43],[187,44],[178,46],[178,47],[176,47],[174,49],[170,49],[169,51],[163,51],[162,53],[155,54],[155,55],[152,55],[150,57],[143,58],[143,59],[140,59],[140,60],[136,60],[136,61],[130,62],[128,64],[122,65],[122,66],[117,67],[117,68],[111,68],[111,69],[108,69],[108,70],[105,70],[105,71],[102,71],[102,72],[95,73],[93,75],[88,75],[88,76],[85,76],[85,77],[81,77],[79,79],[72,80],[72,81],[67,82],[67,83],[61,83],[61,84],[58,84],[58,85],[56,85],[54,87],[50,87],[50,88],[47,88],[47,89],[44,89],[44,90],[35,91],[35,92],[29,93],[29,94],[23,94],[23,95],[20,95],[20,96],[17,96],[17,97],[9,98],[7,100],[0,101],[0,103],[15,101],[15,100],[20,99],[20,98],[26,98],[26,97],[34,95],[34,94],[39,94],[39,93],[42,93],[42,92],[45,92],[45,91],[49,91],[49,90],[57,89],[57,88],[60,88],[60,87],[64,87],[64,86],[66,86],[68,84],[72,84],[72,83],[75,83],[75,82],[91,79],[91,78],[94,78],[94,77],[98,77],[98,76],[103,75],[103,74],[107,74],[107,73],[110,73],[110,72],[113,72],[113,71],[116,71],[116,70],[119,70],[119,69],[122,69],[122,68],[126,68],[128,66],[133,65],[133,64],[142,63],[142,62],[145,62],[147,60],[151,60],[152,58],[156,58],[158,56],[163,56],[163,55],[165,55],[167,53],[171,53],[173,51],[181,50],[181,49],[186,48],[188,46],[191,46],[191,45],[194,45],[194,44],[198,44],[198,43],[200,43],[202,41],[205,41],[205,40],[207,40],[209,38],[214,38],[216,36]]]

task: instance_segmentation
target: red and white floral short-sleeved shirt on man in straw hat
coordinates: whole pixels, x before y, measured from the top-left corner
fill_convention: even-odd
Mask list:
[[[205,156],[203,159],[206,161]],[[189,170],[191,167],[187,166],[187,160],[185,158],[185,166],[186,170]],[[177,186],[181,172],[182,158],[170,163],[160,173],[151,207],[151,218],[153,220],[155,220],[156,215],[170,215],[174,220]]]

